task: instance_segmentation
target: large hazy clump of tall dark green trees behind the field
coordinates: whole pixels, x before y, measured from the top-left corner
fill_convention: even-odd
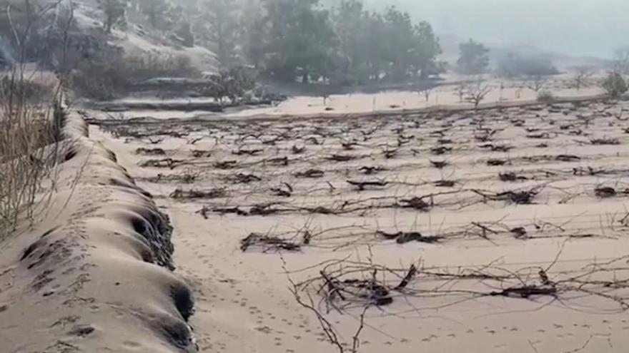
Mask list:
[[[432,26],[361,0],[205,0],[208,26],[195,30],[224,66],[249,63],[278,81],[340,85],[399,82],[440,73]],[[200,7],[203,7],[202,5]],[[209,34],[209,35],[208,35]]]

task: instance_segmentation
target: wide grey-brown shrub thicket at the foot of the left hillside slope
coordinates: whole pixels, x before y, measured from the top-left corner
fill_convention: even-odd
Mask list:
[[[199,72],[187,56],[149,54],[142,57],[109,52],[80,61],[69,83],[76,94],[109,100],[129,93],[135,84],[156,77],[192,77]]]

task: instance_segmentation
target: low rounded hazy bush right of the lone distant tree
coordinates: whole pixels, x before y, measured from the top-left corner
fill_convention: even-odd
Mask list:
[[[507,54],[498,60],[497,74],[506,78],[521,76],[550,76],[559,70],[548,58],[541,56],[522,56],[515,53]]]

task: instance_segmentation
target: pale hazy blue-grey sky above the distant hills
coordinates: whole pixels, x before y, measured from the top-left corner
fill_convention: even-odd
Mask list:
[[[397,4],[437,33],[610,57],[629,46],[629,0],[369,0]]]

